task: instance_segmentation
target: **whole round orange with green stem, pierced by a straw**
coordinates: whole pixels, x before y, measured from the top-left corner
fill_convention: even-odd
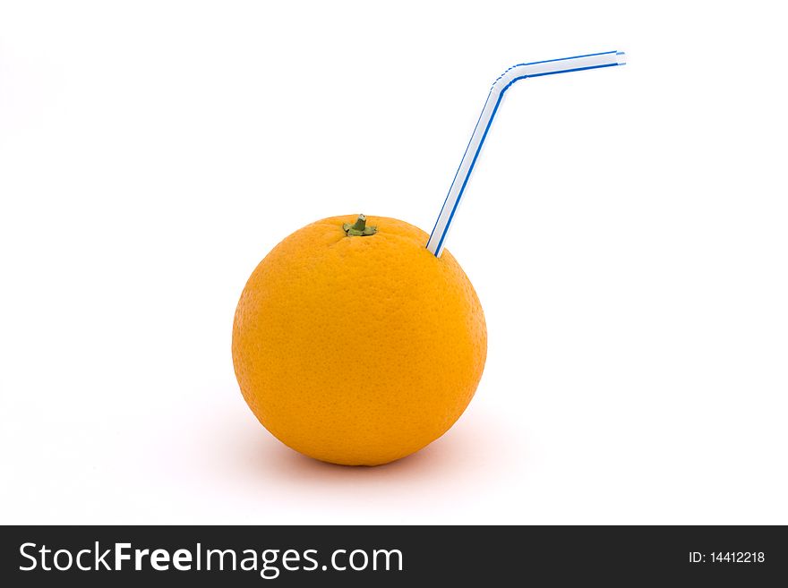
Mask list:
[[[254,270],[233,364],[247,404],[287,446],[334,464],[385,464],[441,437],[466,409],[487,354],[484,312],[458,262],[427,251],[427,236],[395,218],[331,217]]]

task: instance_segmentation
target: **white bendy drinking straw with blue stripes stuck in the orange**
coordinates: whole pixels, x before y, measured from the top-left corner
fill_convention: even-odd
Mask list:
[[[490,132],[492,119],[495,117],[495,113],[498,112],[498,107],[501,106],[501,100],[506,90],[515,81],[551,75],[552,73],[595,70],[601,67],[612,67],[626,63],[626,55],[623,51],[606,51],[604,53],[592,53],[590,55],[577,55],[562,59],[535,61],[530,64],[512,65],[506,72],[503,72],[492,84],[492,89],[490,89],[490,94],[484,103],[482,114],[479,115],[474,133],[471,135],[471,140],[468,141],[465,155],[462,156],[457,173],[451,182],[449,194],[447,194],[446,200],[443,201],[441,214],[438,215],[438,220],[435,221],[435,226],[433,227],[433,233],[430,234],[430,240],[427,241],[427,249],[432,251],[435,257],[441,257],[443,245],[446,242],[446,235],[449,234],[451,221],[457,215],[457,209],[466,191],[468,179],[474,171],[476,159],[479,158],[479,153],[484,145],[484,139],[487,137],[487,133]]]

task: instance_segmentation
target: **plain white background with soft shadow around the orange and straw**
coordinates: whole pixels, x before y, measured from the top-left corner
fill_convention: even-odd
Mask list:
[[[768,3],[0,4],[0,521],[788,524],[784,20]],[[486,312],[467,413],[347,468],[264,430],[233,312],[280,239],[429,230]]]

